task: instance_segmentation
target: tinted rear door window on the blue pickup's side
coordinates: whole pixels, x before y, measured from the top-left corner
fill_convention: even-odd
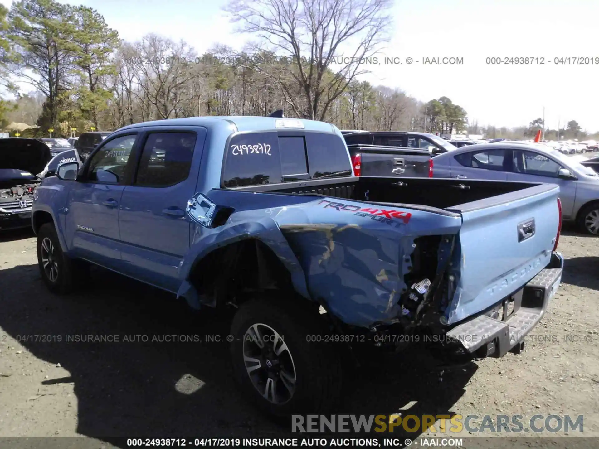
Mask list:
[[[192,132],[155,132],[148,135],[135,185],[169,187],[186,180],[196,138]]]

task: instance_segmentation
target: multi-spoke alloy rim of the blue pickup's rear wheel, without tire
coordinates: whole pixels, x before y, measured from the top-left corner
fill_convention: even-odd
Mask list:
[[[255,389],[272,404],[289,402],[297,380],[283,336],[267,324],[252,324],[243,337],[243,361]]]

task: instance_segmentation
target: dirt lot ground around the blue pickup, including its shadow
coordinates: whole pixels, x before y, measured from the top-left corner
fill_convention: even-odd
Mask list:
[[[522,354],[452,367],[415,351],[377,357],[350,373],[346,413],[584,414],[584,435],[599,436],[599,238],[567,230],[559,251],[561,287]],[[83,292],[53,296],[34,236],[0,236],[0,436],[277,435],[234,389],[226,342],[151,341],[226,336],[219,318],[99,269]]]

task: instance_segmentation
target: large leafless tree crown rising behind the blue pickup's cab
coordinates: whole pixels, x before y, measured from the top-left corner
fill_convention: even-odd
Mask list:
[[[246,65],[271,78],[300,117],[323,120],[364,63],[388,40],[391,0],[232,0],[226,7],[238,31],[261,38],[252,50],[288,58],[289,66],[266,71],[253,58]],[[347,51],[343,55],[343,51]],[[349,56],[348,56],[349,55]],[[341,57],[340,57],[341,56]],[[340,62],[340,69],[332,65]],[[297,95],[299,92],[302,95]]]

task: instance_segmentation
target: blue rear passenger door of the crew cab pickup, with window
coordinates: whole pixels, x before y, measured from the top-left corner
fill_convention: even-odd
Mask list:
[[[125,187],[119,227],[123,271],[173,292],[179,262],[189,249],[187,201],[196,192],[207,129],[146,129],[137,170]]]

